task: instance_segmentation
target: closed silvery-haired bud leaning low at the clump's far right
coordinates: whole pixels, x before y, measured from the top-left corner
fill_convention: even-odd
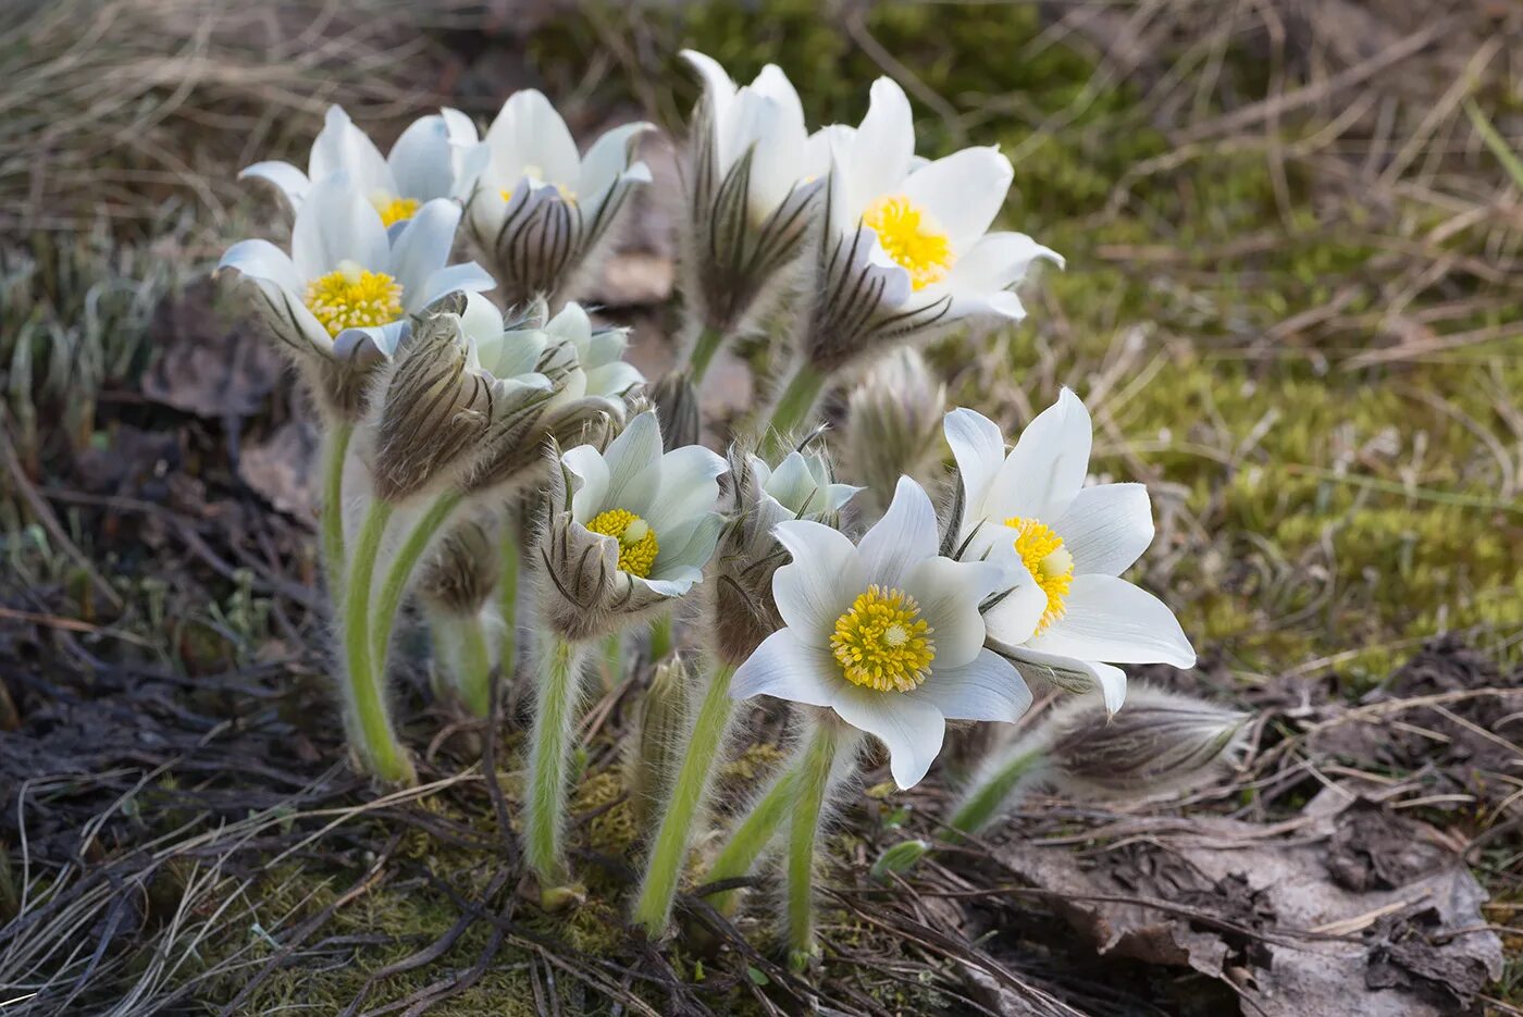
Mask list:
[[[1199,787],[1241,751],[1249,714],[1150,687],[1107,714],[1084,696],[1057,706],[1033,737],[1046,744],[1048,779],[1062,792],[1106,798]]]

